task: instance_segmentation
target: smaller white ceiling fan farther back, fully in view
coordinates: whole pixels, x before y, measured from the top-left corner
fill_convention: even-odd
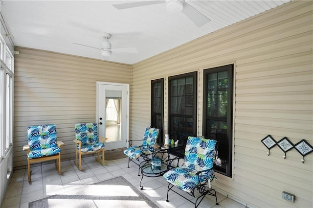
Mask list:
[[[98,49],[101,50],[101,55],[104,57],[110,57],[112,52],[117,52],[117,53],[138,53],[137,48],[135,47],[125,47],[125,48],[112,48],[111,43],[108,41],[108,39],[111,38],[111,34],[110,33],[104,33],[104,41],[101,44],[101,48],[98,47],[93,47],[93,46],[87,46],[87,45],[83,45],[83,44],[78,44],[78,43],[73,43],[75,45],[79,45],[79,46],[86,46],[86,47],[91,47],[94,49]]]

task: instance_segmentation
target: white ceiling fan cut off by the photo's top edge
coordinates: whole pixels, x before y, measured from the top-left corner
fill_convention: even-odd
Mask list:
[[[129,9],[133,7],[146,6],[158,3],[165,3],[166,9],[169,12],[180,12],[182,11],[193,23],[198,27],[210,22],[211,20],[204,16],[194,7],[190,6],[185,0],[147,0],[147,1],[137,1],[130,3],[113,4],[117,9]]]

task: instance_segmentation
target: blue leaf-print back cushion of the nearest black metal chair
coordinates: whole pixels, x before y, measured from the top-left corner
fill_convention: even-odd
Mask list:
[[[213,167],[216,140],[203,137],[188,137],[184,166],[201,171]]]

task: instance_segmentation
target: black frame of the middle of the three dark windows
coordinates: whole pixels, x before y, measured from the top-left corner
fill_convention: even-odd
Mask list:
[[[192,77],[193,79],[193,89],[192,89],[192,97],[191,95],[187,95],[187,92],[185,94],[185,107],[190,108],[192,107],[192,115],[181,115],[181,114],[173,114],[172,112],[172,82],[174,80],[179,80],[182,78],[188,78],[188,77]],[[168,112],[167,112],[167,116],[168,116],[168,134],[169,134],[169,139],[178,139],[179,140],[179,144],[182,144],[184,147],[186,145],[186,141],[188,139],[188,136],[196,136],[197,135],[197,107],[198,107],[198,71],[193,71],[193,72],[189,72],[189,73],[184,73],[184,74],[179,74],[179,75],[174,75],[174,76],[169,76],[168,77]],[[188,119],[188,118],[192,118],[192,133],[188,133],[188,132],[180,132],[178,130],[178,132],[174,133],[172,132],[172,129],[174,129],[174,126],[172,125],[172,118],[173,117],[181,117],[182,119]],[[187,121],[185,121],[185,123],[187,123],[186,125],[189,125],[189,123]],[[183,150],[184,150],[183,147]],[[181,156],[183,157],[184,155],[184,151],[173,151],[171,154],[176,155],[176,156]]]

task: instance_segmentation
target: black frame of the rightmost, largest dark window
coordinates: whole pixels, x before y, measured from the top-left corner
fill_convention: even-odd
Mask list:
[[[220,122],[227,122],[227,130],[226,130],[226,145],[223,144],[223,139],[222,136],[219,135],[224,135],[224,134],[218,134],[216,133],[216,138],[212,138],[212,139],[217,139],[219,140],[219,147],[218,147],[218,151],[222,152],[224,151],[224,154],[226,154],[226,157],[223,158],[224,161],[226,161],[224,163],[223,166],[217,166],[215,168],[215,171],[218,173],[221,173],[225,176],[231,177],[232,176],[232,152],[233,152],[233,144],[232,144],[232,134],[233,134],[233,74],[234,74],[234,65],[225,65],[225,66],[221,66],[221,67],[215,67],[215,68],[211,68],[211,69],[204,69],[203,70],[203,126],[202,126],[202,132],[203,132],[203,136],[206,137],[211,137],[210,135],[210,131],[209,129],[207,129],[207,125],[209,125],[208,122],[210,122],[209,120],[213,121],[220,121]],[[207,75],[211,74],[211,73],[218,73],[218,72],[222,72],[222,71],[227,71],[227,81],[228,81],[228,86],[227,86],[227,116],[226,119],[221,119],[221,117],[214,117],[214,116],[207,116],[207,106],[208,106],[208,83],[207,83]],[[212,132],[211,132],[212,133]],[[221,148],[224,148],[224,146],[226,146],[226,150],[222,150]],[[223,161],[222,159],[222,161]]]

